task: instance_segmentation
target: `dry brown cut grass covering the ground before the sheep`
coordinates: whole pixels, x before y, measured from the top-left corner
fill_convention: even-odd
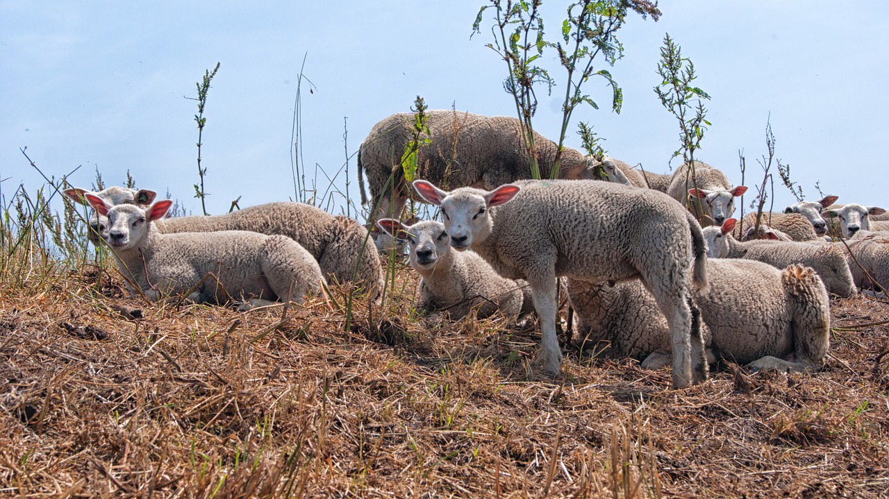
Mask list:
[[[834,302],[821,372],[671,390],[576,353],[543,376],[532,328],[426,329],[410,279],[348,331],[335,300],[147,305],[95,268],[0,289],[0,496],[889,495],[889,329],[853,327],[885,302]]]

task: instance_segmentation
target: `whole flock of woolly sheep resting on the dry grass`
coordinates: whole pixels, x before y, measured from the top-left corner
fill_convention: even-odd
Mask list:
[[[881,208],[837,206],[837,196],[826,196],[764,213],[759,225],[755,214],[737,223],[734,198],[747,188],[705,163],[658,175],[565,148],[560,178],[529,180],[516,119],[427,115],[421,180],[408,183],[400,165],[413,115],[377,123],[360,148],[362,202],[376,222],[370,244],[356,220],[296,202],[164,218],[171,202],[154,202],[153,191],[66,194],[94,208],[92,242],[104,239],[131,290],[153,300],[248,309],[299,302],[325,282],[351,282],[376,299],[377,249],[406,243],[421,276],[417,308],[428,320],[445,311],[453,320],[535,312],[537,361],[558,373],[563,289],[584,341],[644,368],[671,364],[676,387],[706,379],[720,359],[818,368],[829,347],[829,295],[889,286]],[[541,176],[549,176],[557,146],[534,140]],[[606,181],[597,179],[601,170]],[[443,221],[399,221],[410,197],[438,206]]]

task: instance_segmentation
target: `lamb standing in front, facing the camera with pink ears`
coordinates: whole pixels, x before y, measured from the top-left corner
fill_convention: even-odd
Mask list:
[[[673,385],[706,379],[703,345],[690,338],[685,301],[690,273],[693,285],[706,286],[706,247],[691,214],[665,194],[589,180],[524,180],[493,191],[461,187],[450,193],[426,180],[413,187],[441,207],[453,248],[471,248],[503,277],[529,283],[541,322],[538,360],[549,372],[557,373],[562,360],[556,278],[638,278],[669,323],[677,360]]]

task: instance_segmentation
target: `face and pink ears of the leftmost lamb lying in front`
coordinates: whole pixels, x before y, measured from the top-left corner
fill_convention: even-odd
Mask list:
[[[172,205],[172,201],[167,199],[142,209],[134,204],[113,206],[92,193],[86,193],[84,197],[97,213],[108,218],[108,245],[118,250],[139,245],[148,234],[148,223],[164,217]]]

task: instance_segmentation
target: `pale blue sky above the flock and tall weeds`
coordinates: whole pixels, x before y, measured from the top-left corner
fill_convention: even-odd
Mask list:
[[[347,150],[354,154],[372,125],[407,111],[416,95],[430,108],[512,115],[502,90],[503,62],[485,44],[488,28],[469,38],[483,0],[467,2],[29,2],[0,1],[0,191],[42,185],[20,147],[47,175],[89,186],[98,167],[108,184],[130,170],[152,188],[199,211],[195,83],[221,63],[205,110],[203,165],[211,213],[293,199],[291,133],[300,66],[314,83],[301,94],[302,158],[307,176],[345,192]],[[575,113],[567,145],[578,147],[578,121],[595,125],[614,157],[646,170],[669,170],[677,123],[653,92],[665,33],[693,59],[708,91],[712,124],[699,157],[740,184],[738,152],[751,186],[762,177],[765,123],[771,116],[777,157],[806,198],[889,208],[883,155],[889,136],[885,91],[889,4],[835,2],[661,2],[658,22],[629,19],[619,37],[625,57],[608,67],[624,91],[620,115],[610,90],[587,87],[601,109]],[[565,3],[544,1],[551,39]],[[483,27],[491,25],[486,17]],[[557,139],[564,75],[555,51],[545,64],[557,80],[541,92],[536,129]],[[602,67],[605,62],[601,62]],[[307,84],[308,83],[304,83]],[[344,117],[348,128],[343,139]],[[674,163],[674,167],[677,163]],[[349,194],[357,199],[354,157]],[[317,171],[317,173],[316,173]],[[779,183],[780,184],[780,183]],[[747,201],[749,202],[747,196]],[[342,210],[341,199],[330,210]],[[775,186],[775,210],[792,202]]]

